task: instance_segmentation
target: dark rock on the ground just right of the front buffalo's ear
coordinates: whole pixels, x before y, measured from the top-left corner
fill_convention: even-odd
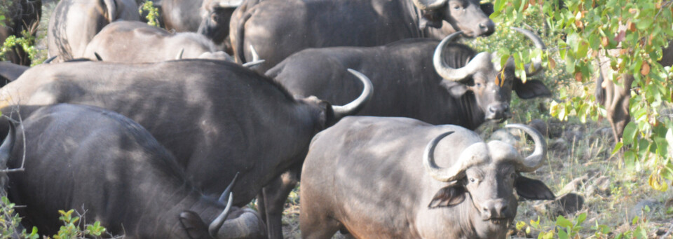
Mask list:
[[[533,209],[539,214],[546,214],[550,219],[559,216],[568,217],[569,214],[578,212],[584,206],[584,197],[576,193],[566,193],[551,202],[534,205]]]

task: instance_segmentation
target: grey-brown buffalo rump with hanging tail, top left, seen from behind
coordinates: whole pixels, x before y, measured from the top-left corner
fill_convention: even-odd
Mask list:
[[[82,57],[86,45],[100,29],[115,20],[140,20],[133,0],[61,0],[49,19],[50,56],[56,62]]]

